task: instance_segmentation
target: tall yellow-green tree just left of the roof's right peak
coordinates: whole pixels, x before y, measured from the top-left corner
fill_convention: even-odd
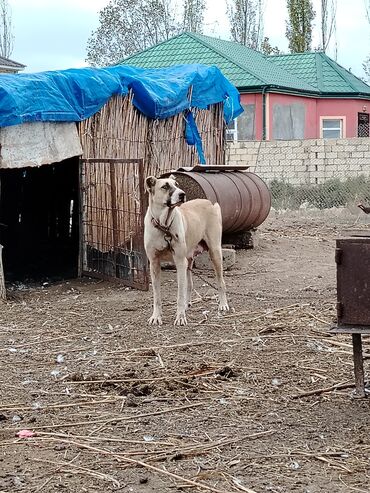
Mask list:
[[[291,53],[311,50],[312,21],[315,17],[311,0],[287,0],[288,16],[286,37]]]

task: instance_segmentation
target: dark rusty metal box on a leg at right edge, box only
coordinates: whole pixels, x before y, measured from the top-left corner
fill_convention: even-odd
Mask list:
[[[370,326],[370,236],[365,235],[336,240],[339,327]]]

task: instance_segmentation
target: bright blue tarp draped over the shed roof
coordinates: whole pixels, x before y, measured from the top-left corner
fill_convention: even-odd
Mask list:
[[[115,94],[133,91],[133,104],[149,118],[224,102],[229,123],[242,111],[237,89],[214,66],[162,69],[130,66],[0,75],[0,127],[25,122],[77,122]]]

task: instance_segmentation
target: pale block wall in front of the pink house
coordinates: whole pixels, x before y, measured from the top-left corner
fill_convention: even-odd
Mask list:
[[[370,139],[314,139],[228,143],[226,164],[248,165],[263,180],[291,184],[370,176]]]

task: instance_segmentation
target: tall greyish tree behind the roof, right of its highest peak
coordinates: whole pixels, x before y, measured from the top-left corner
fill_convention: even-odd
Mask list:
[[[264,0],[230,0],[227,14],[233,41],[255,50],[263,37]]]

